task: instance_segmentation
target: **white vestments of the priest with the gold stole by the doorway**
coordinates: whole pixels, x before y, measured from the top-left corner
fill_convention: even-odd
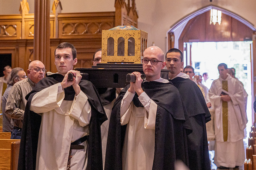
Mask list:
[[[227,75],[228,92],[222,89],[222,81],[225,80],[219,77],[212,82],[209,97],[215,109],[216,155],[214,163],[217,166],[233,168],[243,165],[245,159],[243,138],[248,120],[245,114],[242,86],[236,79]],[[231,98],[231,101],[228,101],[228,137],[225,142],[223,139],[222,100],[220,99],[222,91]]]

